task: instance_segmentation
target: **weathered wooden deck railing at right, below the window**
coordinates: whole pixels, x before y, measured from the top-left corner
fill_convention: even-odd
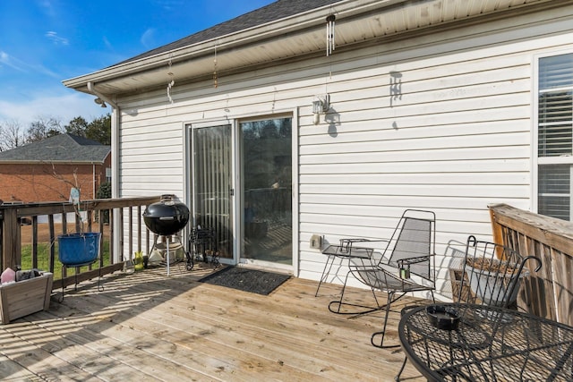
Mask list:
[[[506,204],[489,208],[496,242],[543,261],[527,284],[528,310],[573,326],[573,223]]]

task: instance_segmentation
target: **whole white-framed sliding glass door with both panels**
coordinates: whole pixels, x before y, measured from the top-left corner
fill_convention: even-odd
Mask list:
[[[220,259],[293,265],[292,144],[291,117],[192,126],[192,225]]]

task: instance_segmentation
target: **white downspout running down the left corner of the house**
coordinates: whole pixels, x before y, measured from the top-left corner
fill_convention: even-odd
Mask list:
[[[88,81],[88,90],[98,96],[112,108],[111,115],[111,197],[119,198],[119,106],[111,99],[100,93],[93,82]],[[121,227],[119,214],[114,214],[114,226]],[[119,240],[123,241],[123,233],[119,233]],[[120,245],[117,238],[113,242],[114,261],[123,261],[124,254],[119,253]]]

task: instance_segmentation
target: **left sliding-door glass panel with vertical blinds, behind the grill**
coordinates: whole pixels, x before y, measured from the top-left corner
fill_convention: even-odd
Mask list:
[[[192,130],[194,228],[210,229],[221,258],[233,258],[231,126]]]

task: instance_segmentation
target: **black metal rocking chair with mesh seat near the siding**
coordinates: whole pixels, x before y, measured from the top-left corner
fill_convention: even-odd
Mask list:
[[[329,310],[338,314],[365,314],[375,310],[385,310],[384,324],[380,332],[372,334],[371,343],[380,348],[398,347],[399,344],[384,344],[384,335],[390,306],[406,293],[429,292],[435,289],[435,222],[436,216],[432,211],[406,209],[394,233],[389,240],[357,242],[355,245],[368,247],[369,243],[384,242],[381,258],[372,255],[370,262],[364,259],[349,259],[349,272],[346,275],[339,301],[331,301]],[[376,250],[373,250],[374,254]],[[386,304],[381,305],[376,299],[375,307],[364,307],[359,304],[344,301],[344,293],[348,276],[355,276],[361,283],[375,291],[388,293]],[[343,307],[354,306],[362,311],[348,312]],[[368,309],[370,308],[370,309]]]

